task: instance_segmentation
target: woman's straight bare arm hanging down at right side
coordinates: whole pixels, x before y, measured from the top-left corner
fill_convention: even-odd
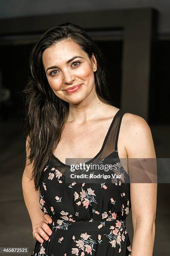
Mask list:
[[[155,159],[155,148],[148,123],[138,115],[128,113],[128,158]],[[155,240],[157,183],[131,183],[130,196],[133,218],[131,256],[152,256]]]

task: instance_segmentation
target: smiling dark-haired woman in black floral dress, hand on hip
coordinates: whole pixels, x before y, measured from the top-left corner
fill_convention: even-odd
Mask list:
[[[151,256],[156,184],[130,184],[120,158],[155,158],[153,139],[143,118],[112,105],[100,49],[81,27],[61,24],[34,46],[30,70],[22,186],[37,240],[31,255]],[[121,175],[67,182],[67,158],[90,159],[86,165],[116,159]],[[125,225],[131,207],[132,248]]]

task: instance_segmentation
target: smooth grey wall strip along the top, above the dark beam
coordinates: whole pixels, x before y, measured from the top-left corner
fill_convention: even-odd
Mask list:
[[[170,33],[170,0],[0,0],[0,18],[142,7],[157,9],[159,33]]]

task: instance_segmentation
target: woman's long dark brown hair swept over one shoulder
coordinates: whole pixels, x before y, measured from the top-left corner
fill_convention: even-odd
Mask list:
[[[112,105],[105,78],[106,60],[86,31],[80,26],[67,22],[45,32],[31,50],[29,63],[31,74],[23,90],[28,164],[32,163],[33,166],[31,180],[34,179],[35,191],[39,189],[41,173],[51,160],[52,152],[60,141],[69,113],[69,103],[57,97],[47,81],[42,53],[52,44],[68,38],[77,43],[90,59],[92,53],[95,55],[97,71],[94,72],[94,76],[97,96],[102,102]]]

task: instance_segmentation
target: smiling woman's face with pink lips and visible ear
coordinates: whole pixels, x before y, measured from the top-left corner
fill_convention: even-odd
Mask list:
[[[50,87],[62,100],[75,104],[96,94],[93,73],[97,69],[95,56],[92,54],[90,60],[75,42],[62,40],[48,47],[42,54],[42,62]],[[75,85],[80,86],[74,91],[66,91]]]

